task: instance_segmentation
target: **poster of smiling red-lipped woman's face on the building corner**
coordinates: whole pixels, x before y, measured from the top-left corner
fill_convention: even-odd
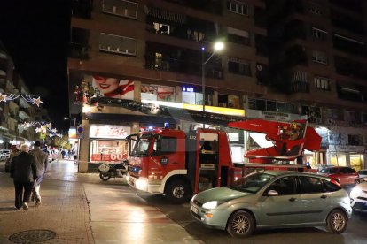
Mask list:
[[[133,100],[134,81],[113,77],[92,76],[92,87],[99,90],[101,96]]]

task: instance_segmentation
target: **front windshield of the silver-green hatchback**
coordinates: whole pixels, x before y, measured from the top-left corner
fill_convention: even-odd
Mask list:
[[[236,180],[229,188],[240,192],[257,193],[275,176],[264,172],[254,172]]]

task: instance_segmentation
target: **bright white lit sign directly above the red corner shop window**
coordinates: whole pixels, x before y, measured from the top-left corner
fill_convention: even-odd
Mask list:
[[[129,134],[128,126],[90,125],[90,138],[125,139]]]

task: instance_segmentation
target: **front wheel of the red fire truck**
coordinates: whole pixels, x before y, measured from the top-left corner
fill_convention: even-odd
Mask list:
[[[165,195],[170,202],[187,202],[190,198],[190,187],[183,180],[175,179],[168,183]]]

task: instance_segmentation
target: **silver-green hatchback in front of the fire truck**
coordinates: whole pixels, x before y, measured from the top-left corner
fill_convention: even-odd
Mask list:
[[[352,215],[347,191],[338,182],[305,172],[254,172],[230,187],[196,194],[190,204],[200,223],[234,237],[277,227],[326,226],[343,233]]]

